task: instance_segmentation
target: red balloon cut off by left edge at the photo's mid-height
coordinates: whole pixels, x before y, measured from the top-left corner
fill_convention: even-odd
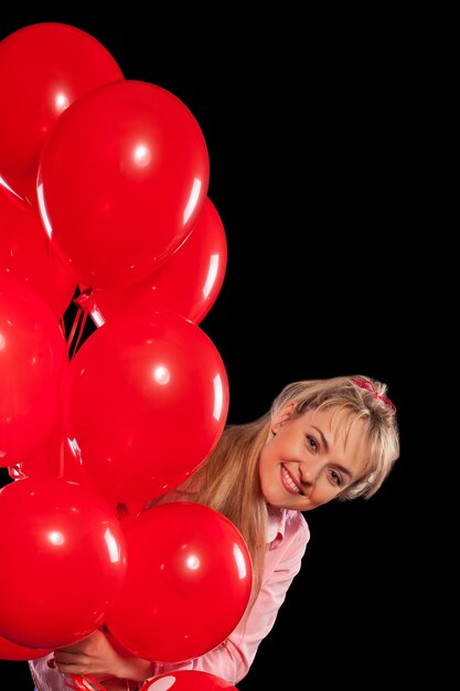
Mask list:
[[[0,466],[29,458],[51,433],[66,352],[51,308],[0,273]]]

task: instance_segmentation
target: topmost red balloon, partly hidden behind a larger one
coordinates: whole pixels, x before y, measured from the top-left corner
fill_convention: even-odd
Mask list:
[[[31,24],[0,42],[0,176],[14,192],[36,206],[45,137],[74,100],[117,79],[110,53],[68,24]]]

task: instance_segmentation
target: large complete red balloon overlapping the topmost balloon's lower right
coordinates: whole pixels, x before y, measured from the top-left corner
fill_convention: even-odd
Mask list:
[[[101,86],[67,108],[42,150],[51,242],[90,288],[141,280],[197,221],[208,167],[200,126],[176,96],[147,82]]]

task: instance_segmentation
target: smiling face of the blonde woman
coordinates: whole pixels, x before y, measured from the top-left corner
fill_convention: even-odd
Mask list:
[[[274,437],[259,457],[261,491],[267,503],[309,511],[335,499],[365,475],[364,424],[334,407],[292,415],[281,411]]]

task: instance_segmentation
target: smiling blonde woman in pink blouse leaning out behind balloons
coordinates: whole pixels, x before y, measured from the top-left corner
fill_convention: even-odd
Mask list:
[[[253,557],[247,612],[217,648],[161,663],[120,657],[101,630],[54,658],[30,662],[39,691],[65,690],[65,674],[136,689],[173,670],[201,670],[235,684],[275,624],[309,541],[303,512],[332,500],[372,497],[399,455],[396,407],[386,385],[367,376],[295,382],[254,423],[228,426],[206,463],[182,486],[149,502],[195,501],[233,521]]]

